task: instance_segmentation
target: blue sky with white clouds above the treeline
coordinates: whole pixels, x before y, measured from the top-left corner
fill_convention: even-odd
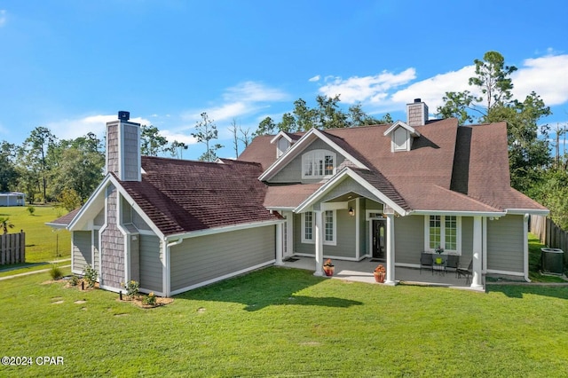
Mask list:
[[[536,91],[568,121],[568,3],[519,1],[0,1],[0,140],[37,126],[104,137],[119,110],[173,141],[201,112],[233,157],[227,128],[319,94],[405,120],[422,98],[469,89],[473,60],[500,51],[517,98]]]

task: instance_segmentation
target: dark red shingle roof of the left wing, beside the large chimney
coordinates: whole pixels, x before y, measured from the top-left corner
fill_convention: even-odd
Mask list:
[[[142,156],[141,182],[121,185],[165,235],[276,220],[264,208],[260,164]]]

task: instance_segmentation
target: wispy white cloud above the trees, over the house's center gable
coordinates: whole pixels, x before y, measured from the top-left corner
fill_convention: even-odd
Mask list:
[[[345,80],[341,77],[327,76],[326,84],[319,88],[319,92],[328,97],[340,95],[342,102],[346,104],[380,102],[390,90],[409,83],[415,78],[414,68],[407,68],[399,74],[383,71],[379,75],[353,76]]]

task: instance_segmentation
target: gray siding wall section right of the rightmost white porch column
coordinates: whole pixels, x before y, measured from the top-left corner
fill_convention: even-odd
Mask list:
[[[523,272],[524,222],[523,216],[487,221],[487,271]]]

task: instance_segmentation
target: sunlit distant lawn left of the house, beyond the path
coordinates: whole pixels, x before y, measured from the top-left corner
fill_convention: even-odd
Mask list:
[[[28,208],[15,206],[0,208],[0,217],[9,217],[14,228],[10,232],[26,232],[26,262],[41,263],[71,256],[71,233],[67,230],[55,231],[45,222],[51,222],[67,214],[63,208],[35,206],[30,215]],[[2,270],[3,266],[0,266]]]

